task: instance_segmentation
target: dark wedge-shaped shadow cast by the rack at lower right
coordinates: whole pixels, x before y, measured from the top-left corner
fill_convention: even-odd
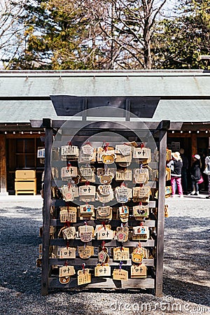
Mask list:
[[[164,276],[165,286],[163,293],[177,299],[193,302],[210,307],[210,293],[208,286],[199,286],[194,283],[180,281]]]

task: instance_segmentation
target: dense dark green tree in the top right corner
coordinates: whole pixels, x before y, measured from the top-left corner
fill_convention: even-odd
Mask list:
[[[190,1],[183,15],[159,24],[153,43],[156,68],[207,69],[199,56],[210,52],[209,10],[209,1]]]

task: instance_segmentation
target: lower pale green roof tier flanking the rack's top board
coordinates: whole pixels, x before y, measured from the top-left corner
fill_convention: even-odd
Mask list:
[[[0,123],[29,123],[32,119],[58,117],[51,101],[0,101]],[[160,101],[152,119],[177,122],[210,122],[210,101]]]

